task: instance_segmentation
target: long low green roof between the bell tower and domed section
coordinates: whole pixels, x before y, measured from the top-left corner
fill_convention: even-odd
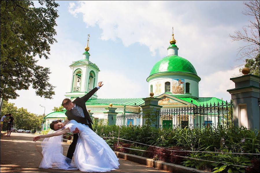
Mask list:
[[[144,103],[142,98],[133,99],[89,99],[86,105],[107,105],[112,103],[113,105],[129,105],[129,106],[139,106]]]

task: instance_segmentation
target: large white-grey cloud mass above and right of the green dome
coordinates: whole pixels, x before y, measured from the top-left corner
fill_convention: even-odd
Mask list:
[[[120,39],[126,47],[140,43],[148,46],[152,55],[158,50],[161,57],[167,56],[173,26],[179,56],[189,60],[202,79],[200,97],[230,99],[226,90],[234,88],[229,79],[238,69],[229,69],[235,66],[239,43],[231,42],[228,35],[241,29],[243,21],[237,28],[238,22],[227,11],[221,13],[229,17],[216,18],[213,10],[219,11],[221,5],[214,3],[205,3],[203,8],[201,3],[183,1],[77,1],[69,11],[81,14],[87,27],[102,29],[102,40]],[[236,12],[241,14],[241,10]]]

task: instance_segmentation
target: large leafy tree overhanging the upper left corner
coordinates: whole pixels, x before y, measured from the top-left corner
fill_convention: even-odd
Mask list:
[[[8,100],[19,95],[17,90],[29,86],[36,95],[52,98],[53,88],[49,81],[49,68],[37,64],[36,57],[48,59],[50,45],[57,42],[55,19],[58,17],[54,1],[0,1],[1,3],[1,92]]]

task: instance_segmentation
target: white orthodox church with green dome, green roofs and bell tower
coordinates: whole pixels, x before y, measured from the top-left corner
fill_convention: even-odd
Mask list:
[[[66,98],[72,101],[77,97],[82,97],[97,86],[98,66],[90,61],[89,35],[83,58],[74,61],[69,67],[71,71],[71,82]],[[198,85],[200,77],[194,66],[185,58],[178,56],[179,48],[176,45],[174,34],[168,47],[168,56],[159,60],[151,68],[146,81],[148,82],[147,93],[154,93],[154,97],[160,98],[158,104],[162,109],[176,107],[200,106],[222,102],[216,97],[199,97]],[[118,99],[99,99],[95,93],[87,102],[86,108],[95,118],[104,118],[109,104],[116,108],[118,113],[137,113],[144,104],[142,98],[118,98]],[[45,117],[45,128],[54,119],[66,119],[64,112],[52,112]]]

